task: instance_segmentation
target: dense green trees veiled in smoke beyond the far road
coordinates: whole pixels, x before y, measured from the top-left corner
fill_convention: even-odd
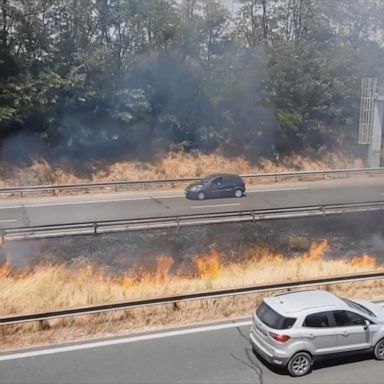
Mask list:
[[[0,156],[356,142],[381,0],[0,0]]]

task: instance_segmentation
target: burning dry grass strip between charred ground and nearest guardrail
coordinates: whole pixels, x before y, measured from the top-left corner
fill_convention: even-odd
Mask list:
[[[172,270],[173,259],[157,258],[154,270],[139,267],[121,276],[80,261],[71,266],[47,265],[30,272],[13,272],[8,264],[0,269],[0,314],[39,312],[120,300],[168,296],[277,281],[343,275],[375,270],[375,258],[327,260],[328,243],[313,243],[307,253],[286,258],[265,248],[250,248],[243,261],[222,264],[212,248]]]

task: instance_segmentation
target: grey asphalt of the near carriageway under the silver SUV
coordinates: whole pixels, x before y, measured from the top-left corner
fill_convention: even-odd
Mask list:
[[[0,354],[0,383],[383,383],[371,355],[315,364],[292,378],[257,358],[249,321]]]

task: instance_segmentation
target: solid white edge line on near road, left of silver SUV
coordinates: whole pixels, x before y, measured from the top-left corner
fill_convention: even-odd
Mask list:
[[[252,321],[247,320],[247,321],[240,321],[237,323],[211,325],[211,326],[198,327],[198,328],[182,329],[182,330],[178,330],[178,331],[153,333],[150,335],[125,337],[123,339],[105,340],[105,341],[98,341],[98,342],[94,342],[94,343],[70,345],[67,347],[58,347],[58,348],[42,349],[42,350],[38,350],[38,351],[13,353],[13,354],[9,354],[9,355],[0,355],[0,361],[24,359],[27,357],[35,357],[35,356],[43,356],[43,355],[53,355],[56,353],[80,351],[80,350],[84,350],[84,349],[106,347],[106,346],[110,346],[110,345],[134,343],[137,341],[162,339],[165,337],[172,337],[172,336],[190,335],[193,333],[210,332],[210,331],[217,331],[220,329],[250,326],[251,324],[252,324]]]

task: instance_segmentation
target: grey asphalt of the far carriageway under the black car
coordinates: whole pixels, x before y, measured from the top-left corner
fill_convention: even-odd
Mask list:
[[[0,229],[381,200],[382,177],[251,186],[238,199],[192,201],[173,190],[3,200]]]

